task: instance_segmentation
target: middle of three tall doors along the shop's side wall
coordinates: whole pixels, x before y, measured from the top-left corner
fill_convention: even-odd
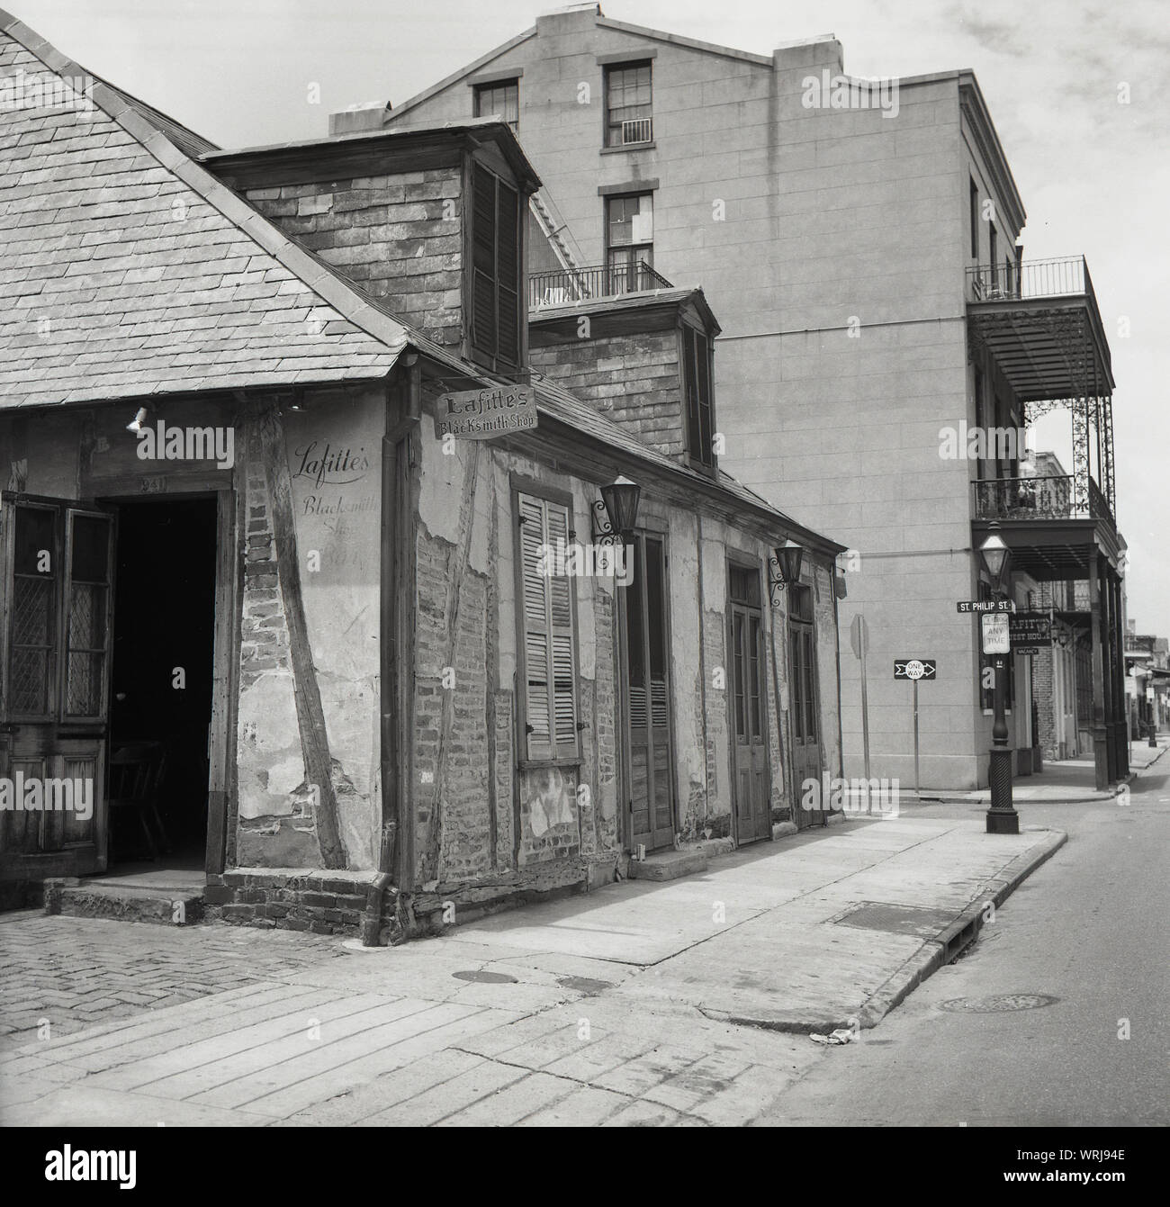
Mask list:
[[[768,680],[758,568],[730,567],[729,612],[735,836],[743,845],[772,835]]]

